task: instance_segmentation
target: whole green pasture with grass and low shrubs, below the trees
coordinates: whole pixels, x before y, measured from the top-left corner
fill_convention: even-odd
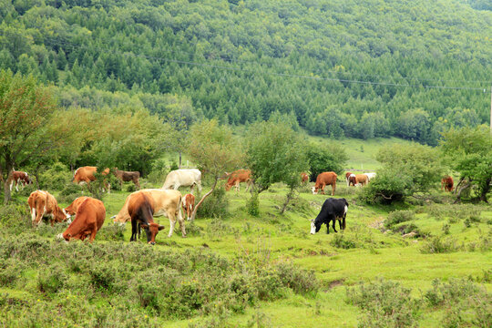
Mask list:
[[[154,247],[143,236],[130,243],[130,224],[120,228],[109,219],[123,205],[128,184],[105,196],[107,218],[93,244],[56,241],[64,224],[31,228],[26,188],[14,194],[13,205],[0,207],[0,323],[489,326],[490,206],[452,205],[438,181],[432,200],[369,206],[357,199],[360,188],[346,187],[339,177],[335,197],[350,203],[347,228],[326,234],[323,225],[310,235],[309,220],[330,197],[313,195],[312,185],[302,187],[282,216],[278,208],[287,188],[273,185],[260,194],[256,217],[247,213],[251,195],[241,184],[239,193],[225,193],[227,215],[199,213],[186,222],[186,239],[178,225],[169,239],[169,220],[157,218],[166,229]],[[212,200],[206,205],[212,211],[222,207],[224,199]],[[71,200],[58,201],[65,207]],[[410,231],[416,235],[402,236]],[[447,297],[454,289],[462,292]]]

